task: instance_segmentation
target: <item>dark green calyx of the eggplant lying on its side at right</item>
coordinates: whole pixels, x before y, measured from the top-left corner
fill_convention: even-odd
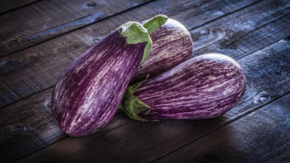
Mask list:
[[[125,94],[122,98],[121,104],[119,106],[119,109],[122,109],[124,113],[133,120],[139,120],[142,122],[158,121],[158,120],[146,120],[137,115],[144,110],[147,110],[146,114],[148,114],[151,110],[151,107],[149,105],[145,104],[144,102],[139,100],[137,96],[133,95],[133,93],[140,87],[140,85],[146,82],[148,77],[149,74],[146,76],[145,80],[137,82],[134,85],[127,87]]]

